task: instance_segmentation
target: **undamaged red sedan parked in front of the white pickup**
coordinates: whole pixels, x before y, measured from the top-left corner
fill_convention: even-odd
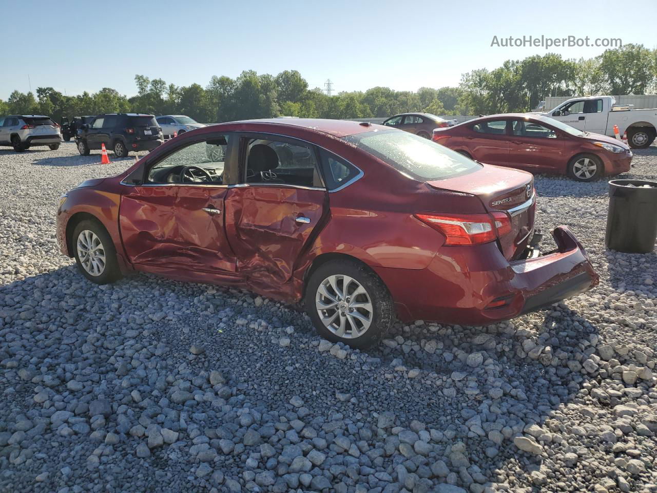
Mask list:
[[[487,164],[568,175],[578,181],[628,172],[632,160],[629,146],[612,137],[525,113],[436,128],[432,140]]]

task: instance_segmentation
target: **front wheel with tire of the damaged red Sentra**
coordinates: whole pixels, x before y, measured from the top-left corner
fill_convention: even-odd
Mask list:
[[[92,283],[107,284],[122,277],[112,238],[100,223],[81,221],[73,231],[71,244],[78,270]]]

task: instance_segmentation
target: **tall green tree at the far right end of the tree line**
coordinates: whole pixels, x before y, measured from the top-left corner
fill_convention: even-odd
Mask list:
[[[645,94],[655,83],[653,53],[643,45],[624,45],[600,55],[600,71],[612,94]]]

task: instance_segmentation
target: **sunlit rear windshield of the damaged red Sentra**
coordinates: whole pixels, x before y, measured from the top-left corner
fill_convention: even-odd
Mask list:
[[[447,147],[401,130],[356,133],[344,140],[422,181],[453,178],[482,168]]]

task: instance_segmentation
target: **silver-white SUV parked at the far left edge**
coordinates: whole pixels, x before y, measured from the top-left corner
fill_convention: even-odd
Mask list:
[[[35,145],[47,145],[52,151],[59,148],[62,133],[49,116],[14,114],[0,116],[0,145],[11,145],[22,153]]]

